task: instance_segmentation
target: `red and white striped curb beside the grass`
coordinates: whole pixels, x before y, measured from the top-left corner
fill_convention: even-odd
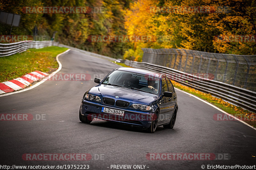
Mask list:
[[[48,76],[48,73],[44,73],[42,71],[33,71],[20,78],[2,82],[0,83],[0,94],[24,89],[34,81],[37,81],[46,76]]]

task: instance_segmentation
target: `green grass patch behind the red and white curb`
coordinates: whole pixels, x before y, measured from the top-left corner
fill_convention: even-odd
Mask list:
[[[0,82],[21,77],[32,71],[52,72],[58,68],[56,56],[68,48],[30,48],[25,52],[0,57]]]

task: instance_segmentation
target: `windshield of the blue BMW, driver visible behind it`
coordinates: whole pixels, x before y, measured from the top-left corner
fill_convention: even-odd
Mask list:
[[[153,74],[145,75],[134,72],[115,70],[102,81],[102,84],[121,86],[124,88],[158,94],[160,79],[154,77]]]

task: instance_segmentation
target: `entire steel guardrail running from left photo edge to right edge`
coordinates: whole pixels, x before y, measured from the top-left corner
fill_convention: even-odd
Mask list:
[[[23,41],[10,44],[0,44],[0,56],[9,56],[18,52],[25,51],[28,48],[44,48],[48,46],[70,48],[71,50],[81,52],[86,55],[100,57],[110,61],[116,61],[115,58],[70,47],[53,41]],[[121,63],[124,63],[130,67],[151,70],[165,74],[167,76],[169,75],[168,77],[182,85],[192,87],[202,92],[210,93],[213,96],[222,98],[223,100],[226,100],[234,105],[243,107],[256,113],[256,92],[234,85],[225,84],[223,82],[197,77],[189,73],[156,64],[130,60],[121,60]]]

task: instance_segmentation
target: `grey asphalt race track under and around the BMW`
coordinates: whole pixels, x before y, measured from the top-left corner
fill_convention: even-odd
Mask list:
[[[118,67],[74,51],[61,55],[59,60],[62,63],[59,73],[103,77]],[[149,134],[106,121],[81,123],[78,118],[81,99],[95,85],[92,80],[46,81],[26,92],[0,97],[1,114],[45,116],[45,120],[0,121],[0,165],[76,164],[89,165],[90,169],[145,165],[145,169],[151,170],[256,164],[256,157],[252,157],[256,156],[256,130],[238,121],[214,120],[213,115],[220,111],[180,91],[176,91],[179,111],[174,129],[158,127],[156,133]],[[89,153],[92,159],[30,161],[22,159],[25,153]],[[225,153],[229,157],[228,160],[148,160],[147,153],[214,153],[216,156]]]

